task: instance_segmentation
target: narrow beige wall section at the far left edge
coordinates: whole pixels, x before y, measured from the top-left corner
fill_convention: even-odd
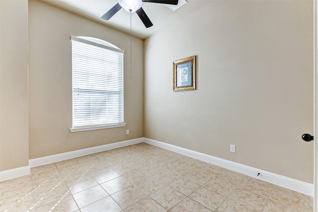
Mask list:
[[[27,17],[27,0],[0,0],[0,171],[29,164]]]

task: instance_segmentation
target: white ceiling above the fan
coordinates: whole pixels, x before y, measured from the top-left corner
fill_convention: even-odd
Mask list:
[[[124,9],[119,10],[110,20],[102,20],[100,17],[106,13],[118,0],[42,0],[46,3],[61,7],[65,10],[79,14],[112,28],[130,33],[130,13]],[[142,7],[154,26],[146,28],[138,15],[132,13],[132,34],[145,39],[158,32],[170,23],[182,19],[211,0],[187,0],[180,8],[172,11],[164,4],[144,2]]]

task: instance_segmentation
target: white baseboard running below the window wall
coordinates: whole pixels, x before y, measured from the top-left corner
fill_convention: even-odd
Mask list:
[[[80,149],[80,150],[76,150],[76,151],[72,151],[72,152],[65,152],[65,153],[61,153],[61,154],[30,159],[29,166],[31,168],[36,167],[36,166],[42,166],[42,165],[46,165],[46,164],[50,164],[50,163],[59,162],[62,160],[77,158],[77,157],[84,156],[84,155],[94,154],[97,152],[107,151],[107,150],[116,149],[119,147],[129,146],[129,145],[142,143],[142,142],[144,142],[144,138],[136,138],[136,139],[120,141],[120,142],[116,142],[116,143],[105,144],[105,145],[101,145],[101,146],[90,147],[90,148],[86,148],[86,149]]]

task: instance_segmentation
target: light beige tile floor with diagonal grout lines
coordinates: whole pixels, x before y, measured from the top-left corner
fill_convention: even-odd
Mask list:
[[[0,182],[0,212],[311,212],[313,197],[145,143]]]

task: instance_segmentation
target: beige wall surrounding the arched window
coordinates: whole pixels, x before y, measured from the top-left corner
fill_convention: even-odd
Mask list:
[[[125,51],[126,127],[70,132],[71,35],[100,38]],[[143,137],[143,40],[132,39],[131,80],[128,34],[43,2],[29,2],[29,159]]]

